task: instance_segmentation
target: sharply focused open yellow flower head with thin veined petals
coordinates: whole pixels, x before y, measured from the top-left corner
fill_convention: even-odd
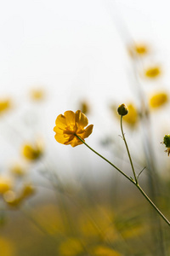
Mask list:
[[[80,110],[77,110],[76,113],[68,110],[65,111],[64,115],[59,114],[55,120],[55,125],[56,134],[54,137],[56,141],[65,145],[71,144],[72,147],[82,144],[77,136],[84,140],[92,133],[94,127],[94,125],[88,125],[86,115]],[[88,127],[84,129],[87,125]]]

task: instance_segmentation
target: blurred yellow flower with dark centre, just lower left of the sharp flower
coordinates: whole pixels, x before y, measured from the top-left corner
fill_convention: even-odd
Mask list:
[[[42,156],[42,144],[37,142],[35,144],[25,144],[22,148],[22,154],[27,160],[37,160]]]

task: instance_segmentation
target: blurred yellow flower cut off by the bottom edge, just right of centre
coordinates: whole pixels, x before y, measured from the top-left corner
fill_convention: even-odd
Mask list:
[[[93,249],[94,256],[121,256],[121,253],[116,252],[111,247],[105,247],[102,245],[96,246]]]

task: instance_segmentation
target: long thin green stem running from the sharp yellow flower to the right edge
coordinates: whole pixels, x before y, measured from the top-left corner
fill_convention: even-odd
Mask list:
[[[153,203],[153,201],[150,200],[150,197],[148,195],[146,195],[144,193],[144,190],[142,188],[140,188],[139,183],[137,183],[136,181],[134,181],[131,177],[128,177],[127,174],[125,172],[122,172],[118,167],[116,167],[114,164],[111,163],[111,161],[107,160],[103,155],[99,154],[97,151],[94,150],[94,148],[91,148],[90,146],[88,146],[87,143],[85,143],[81,137],[77,136],[77,134],[75,134],[75,136],[82,142],[84,143],[84,145],[86,145],[90,150],[92,150],[95,154],[99,155],[99,157],[101,157],[103,160],[105,160],[106,162],[108,162],[111,166],[113,166],[118,172],[121,172],[122,175],[124,177],[126,177],[131,183],[133,183],[137,189],[139,189],[140,193],[142,195],[144,195],[145,199],[150,203],[150,205],[156,210],[156,212],[161,216],[161,218],[170,226],[170,222],[168,221],[168,219],[163,215],[163,213],[161,213],[161,211],[156,207],[156,205]]]

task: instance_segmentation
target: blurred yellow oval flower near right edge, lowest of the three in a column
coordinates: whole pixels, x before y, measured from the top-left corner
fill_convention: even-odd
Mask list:
[[[156,93],[154,96],[150,97],[150,108],[159,108],[168,101],[168,96],[166,92]]]

